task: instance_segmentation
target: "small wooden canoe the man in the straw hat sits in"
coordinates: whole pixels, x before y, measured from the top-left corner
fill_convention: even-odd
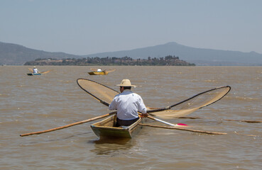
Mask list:
[[[92,130],[97,135],[97,137],[113,137],[113,138],[131,138],[134,134],[138,132],[142,126],[138,127],[138,123],[141,123],[142,118],[139,118],[136,123],[130,126],[124,127],[114,127],[116,125],[116,115],[111,115],[111,117],[106,118],[102,121],[94,123],[91,125]]]

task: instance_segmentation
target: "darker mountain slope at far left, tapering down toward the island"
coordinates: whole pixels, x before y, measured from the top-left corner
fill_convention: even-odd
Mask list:
[[[38,58],[77,58],[77,55],[68,55],[64,52],[45,52],[33,50],[22,45],[0,42],[0,64],[22,65],[25,62]]]

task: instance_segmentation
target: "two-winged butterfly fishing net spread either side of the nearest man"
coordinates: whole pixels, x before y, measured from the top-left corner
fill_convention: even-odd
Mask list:
[[[109,104],[113,100],[114,96],[119,94],[118,91],[115,91],[108,86],[104,86],[103,84],[99,84],[88,79],[77,79],[77,84],[81,87],[81,89],[96,98],[98,101],[104,101]],[[204,91],[186,99],[185,101],[170,106],[170,108],[167,107],[166,109],[168,110],[165,110],[165,108],[147,108],[151,115],[155,115],[159,118],[179,118],[197,111],[197,109],[209,106],[210,104],[219,101],[230,91],[230,89],[230,86],[222,86],[209,91]]]

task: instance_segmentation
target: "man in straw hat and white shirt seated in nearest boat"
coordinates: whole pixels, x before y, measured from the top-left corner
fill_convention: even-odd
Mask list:
[[[129,79],[123,79],[120,86],[121,94],[114,96],[113,101],[109,105],[109,110],[117,110],[116,127],[129,126],[139,119],[138,111],[141,112],[141,117],[147,117],[146,106],[143,99],[138,94],[131,91],[131,84]]]

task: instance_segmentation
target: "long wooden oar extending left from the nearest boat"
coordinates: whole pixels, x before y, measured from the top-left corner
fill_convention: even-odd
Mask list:
[[[29,136],[29,135],[38,135],[38,134],[45,133],[45,132],[52,132],[52,131],[55,131],[55,130],[65,129],[65,128],[69,128],[69,127],[74,126],[74,125],[80,125],[82,123],[88,123],[88,122],[91,122],[93,120],[97,120],[97,119],[100,119],[100,118],[107,117],[109,115],[114,115],[115,113],[116,113],[116,111],[111,112],[111,113],[107,113],[105,115],[99,115],[97,117],[90,118],[90,119],[87,119],[87,120],[82,120],[80,122],[71,123],[69,125],[60,126],[58,128],[53,128],[53,129],[50,129],[50,130],[43,130],[43,131],[39,131],[39,132],[30,132],[30,133],[22,134],[20,136],[23,137],[23,136]]]

